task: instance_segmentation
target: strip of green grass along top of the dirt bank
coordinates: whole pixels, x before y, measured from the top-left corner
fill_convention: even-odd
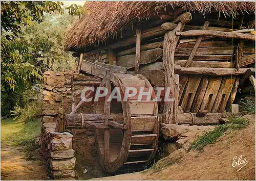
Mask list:
[[[215,143],[224,133],[241,130],[249,125],[249,119],[241,116],[232,116],[225,124],[218,125],[213,131],[205,133],[191,144],[191,149],[203,150],[208,145]]]

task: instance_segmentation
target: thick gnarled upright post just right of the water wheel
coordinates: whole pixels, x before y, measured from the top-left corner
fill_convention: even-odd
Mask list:
[[[184,24],[178,23],[177,27],[164,35],[163,42],[163,66],[165,70],[165,90],[170,89],[170,93],[173,93],[172,98],[175,99],[178,93],[174,95],[176,77],[174,72],[174,53],[179,40],[179,36],[176,36],[176,32],[181,32],[184,29]],[[163,123],[170,123],[173,119],[174,101],[165,101],[163,109]]]

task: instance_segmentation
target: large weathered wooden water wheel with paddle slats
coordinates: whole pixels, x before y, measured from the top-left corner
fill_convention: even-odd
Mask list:
[[[109,92],[115,87],[120,88],[122,101],[106,101],[110,94],[95,103],[95,113],[123,114],[123,120],[106,119],[105,124],[111,128],[96,130],[96,143],[100,163],[107,172],[115,172],[118,169],[128,170],[145,166],[153,157],[157,149],[159,135],[159,121],[157,103],[146,101],[142,96],[138,101],[138,93],[123,101],[125,89],[135,87],[138,91],[142,87],[145,90],[152,88],[143,75],[110,73],[104,77],[100,87],[108,88]]]

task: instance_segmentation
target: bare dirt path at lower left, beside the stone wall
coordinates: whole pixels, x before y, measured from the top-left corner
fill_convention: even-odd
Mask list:
[[[26,161],[20,147],[2,145],[1,180],[49,179],[41,161]]]

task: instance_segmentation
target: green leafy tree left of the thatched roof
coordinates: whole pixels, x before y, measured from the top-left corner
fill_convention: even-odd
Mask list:
[[[15,106],[26,105],[25,90],[40,84],[45,70],[74,68],[74,58],[63,50],[62,36],[72,16],[82,12],[79,7],[65,10],[62,5],[48,1],[1,2],[2,116],[10,116]]]

